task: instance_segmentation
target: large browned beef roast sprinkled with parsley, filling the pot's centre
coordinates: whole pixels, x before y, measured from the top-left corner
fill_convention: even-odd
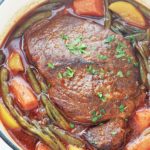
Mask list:
[[[139,72],[122,36],[66,15],[30,27],[24,42],[28,58],[51,84],[51,100],[71,121],[92,125],[133,112]]]

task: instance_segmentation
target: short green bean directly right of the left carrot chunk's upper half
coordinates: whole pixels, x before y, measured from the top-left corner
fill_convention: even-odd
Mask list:
[[[31,68],[28,67],[27,68],[27,76],[28,76],[28,80],[33,88],[33,90],[37,93],[40,94],[41,93],[41,88],[39,86],[38,81],[35,78],[34,73],[32,72]]]

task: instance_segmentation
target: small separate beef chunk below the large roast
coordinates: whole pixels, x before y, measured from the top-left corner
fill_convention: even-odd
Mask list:
[[[125,121],[119,118],[111,120],[106,124],[90,128],[84,136],[89,143],[100,150],[116,150],[121,147],[126,136]]]

